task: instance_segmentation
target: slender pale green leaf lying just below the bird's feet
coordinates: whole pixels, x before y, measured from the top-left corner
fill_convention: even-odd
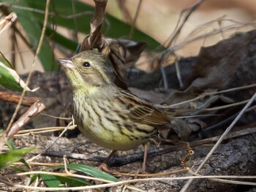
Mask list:
[[[56,168],[64,168],[64,166],[57,166]],[[89,174],[91,176],[101,178],[103,180],[110,180],[113,182],[118,182],[119,180],[116,177],[113,177],[111,174],[106,172],[102,172],[101,170],[94,168],[92,166],[87,166],[83,164],[68,164],[67,168],[74,169],[78,172],[83,172],[85,174]]]

